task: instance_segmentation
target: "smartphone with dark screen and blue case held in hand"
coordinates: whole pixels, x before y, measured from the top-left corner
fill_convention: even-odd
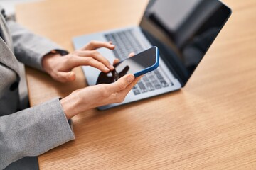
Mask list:
[[[139,77],[159,67],[158,47],[151,47],[133,57],[129,57],[114,64],[114,70],[108,73],[101,72],[96,84],[111,84],[126,74]]]

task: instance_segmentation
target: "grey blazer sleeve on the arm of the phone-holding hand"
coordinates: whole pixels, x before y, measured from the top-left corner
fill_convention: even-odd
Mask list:
[[[0,117],[0,169],[18,159],[37,156],[75,136],[58,98]]]

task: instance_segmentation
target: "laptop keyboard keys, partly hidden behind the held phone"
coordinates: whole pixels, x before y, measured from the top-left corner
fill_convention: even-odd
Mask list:
[[[115,45],[113,52],[119,60],[126,59],[131,52],[137,54],[145,50],[132,33],[132,30],[105,34],[105,38],[108,41],[112,41]],[[172,85],[174,84],[168,78],[164,77],[164,73],[161,71],[161,67],[159,67],[153,72],[144,74],[144,77],[138,81],[132,91],[135,95],[139,95]]]

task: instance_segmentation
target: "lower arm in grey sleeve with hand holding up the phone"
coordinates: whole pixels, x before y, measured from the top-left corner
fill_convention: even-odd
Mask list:
[[[0,117],[0,169],[22,157],[36,156],[75,137],[68,120],[83,111],[120,103],[139,78],[128,74],[113,84],[73,91],[38,106]]]

